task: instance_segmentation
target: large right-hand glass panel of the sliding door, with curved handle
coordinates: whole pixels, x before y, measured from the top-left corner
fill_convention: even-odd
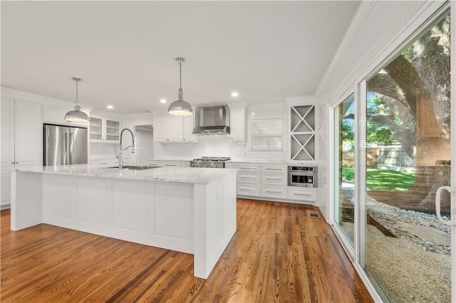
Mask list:
[[[437,190],[455,177],[450,53],[447,12],[371,75],[363,92],[361,265],[391,302],[456,299],[452,188],[440,190],[442,220],[435,211]]]

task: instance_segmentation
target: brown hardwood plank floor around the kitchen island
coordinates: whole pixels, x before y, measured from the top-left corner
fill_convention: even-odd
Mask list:
[[[238,199],[237,233],[207,280],[193,256],[52,225],[9,230],[1,302],[372,302],[312,206]]]

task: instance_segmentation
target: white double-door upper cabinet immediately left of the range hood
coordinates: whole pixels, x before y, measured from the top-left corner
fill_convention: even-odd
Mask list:
[[[192,130],[193,116],[154,115],[154,142],[198,142]]]

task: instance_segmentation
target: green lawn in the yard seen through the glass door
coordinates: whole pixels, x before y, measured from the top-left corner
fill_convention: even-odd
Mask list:
[[[343,177],[355,179],[353,169],[342,169]],[[373,191],[408,191],[415,182],[415,174],[385,169],[368,169],[368,188]]]

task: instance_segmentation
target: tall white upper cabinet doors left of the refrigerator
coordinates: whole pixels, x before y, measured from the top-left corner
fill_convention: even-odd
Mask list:
[[[40,165],[43,155],[41,105],[1,98],[1,165]]]

